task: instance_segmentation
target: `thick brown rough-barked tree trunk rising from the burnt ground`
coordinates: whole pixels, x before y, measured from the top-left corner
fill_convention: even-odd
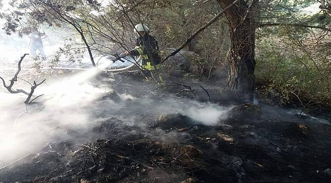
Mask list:
[[[233,0],[217,1],[222,8],[226,8],[234,2]],[[228,87],[232,94],[231,97],[236,99],[253,99],[255,26],[251,8],[241,0],[225,12],[231,35],[228,52]]]

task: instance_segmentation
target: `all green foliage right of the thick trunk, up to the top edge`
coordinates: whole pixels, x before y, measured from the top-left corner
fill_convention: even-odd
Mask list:
[[[261,13],[261,22],[279,22],[286,26],[257,30],[256,77],[269,82],[268,89],[278,90],[283,104],[299,101],[306,108],[331,102],[331,16],[325,12],[309,14],[303,8],[316,1],[266,1],[270,8]],[[272,10],[272,11],[270,11]]]

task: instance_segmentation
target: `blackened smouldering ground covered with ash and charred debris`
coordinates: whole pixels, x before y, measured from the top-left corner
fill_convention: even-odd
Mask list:
[[[151,90],[132,75],[115,77],[104,84],[138,101],[158,102],[181,89]],[[208,89],[213,102],[229,104],[220,100],[218,90]],[[206,101],[199,91],[198,100]],[[194,99],[187,92],[180,95]],[[107,98],[128,109],[142,105],[121,101],[114,92],[99,100]],[[105,110],[94,114],[97,125],[90,132],[69,132],[75,138],[93,132],[93,140],[50,142],[0,169],[0,182],[330,182],[331,126],[265,106],[236,105],[213,126],[180,113],[150,110],[131,111],[134,117],[127,123],[120,117],[123,111]],[[105,113],[112,116],[103,117]]]

